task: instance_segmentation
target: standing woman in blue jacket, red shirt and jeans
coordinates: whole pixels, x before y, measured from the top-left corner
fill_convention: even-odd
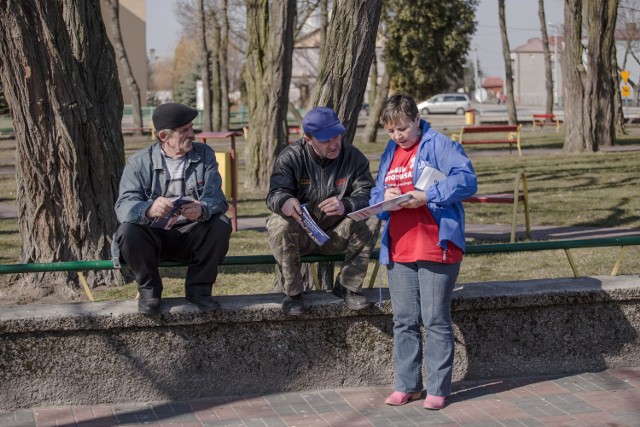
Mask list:
[[[396,367],[395,391],[385,403],[404,405],[421,397],[424,357],[423,406],[442,409],[453,370],[451,298],[465,248],[462,200],[475,194],[477,179],[462,146],[421,120],[409,95],[389,98],[380,122],[391,140],[370,204],[411,194],[393,211],[378,215],[386,220],[380,262],[389,274]],[[440,179],[416,188],[431,168]],[[420,323],[426,331],[424,351]]]

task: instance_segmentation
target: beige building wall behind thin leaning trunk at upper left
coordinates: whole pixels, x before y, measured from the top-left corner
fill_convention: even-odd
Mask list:
[[[102,19],[107,28],[109,40],[113,43],[111,32],[111,15],[105,0],[100,0],[102,9]],[[129,64],[133,70],[133,76],[136,79],[138,88],[140,89],[140,103],[142,106],[147,105],[147,5],[146,0],[120,0],[120,32],[124,48],[127,52]],[[118,70],[120,70],[120,62]],[[125,105],[131,104],[131,92],[122,73],[118,73],[120,77],[120,86],[122,86],[122,98]]]

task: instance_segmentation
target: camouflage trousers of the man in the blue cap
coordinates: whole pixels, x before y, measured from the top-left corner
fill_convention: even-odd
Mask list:
[[[359,292],[379,231],[380,220],[375,216],[366,221],[345,218],[326,232],[329,240],[318,246],[295,219],[272,214],[267,220],[267,232],[282,281],[278,288],[281,287],[287,295],[297,295],[303,291],[301,256],[345,253],[338,281],[345,288]]]

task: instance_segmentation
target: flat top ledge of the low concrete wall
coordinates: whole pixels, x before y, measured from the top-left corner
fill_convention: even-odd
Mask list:
[[[388,289],[364,289],[371,303],[360,312],[349,310],[330,292],[305,294],[304,318],[327,319],[354,316],[390,315]],[[640,276],[597,276],[540,279],[513,282],[468,283],[456,287],[453,311],[489,310],[565,303],[625,301],[640,299]],[[130,327],[160,327],[181,324],[293,321],[280,309],[282,294],[254,294],[216,297],[222,310],[202,313],[184,298],[163,299],[158,317],[138,314],[137,301],[78,302],[66,304],[30,304],[2,307],[0,334],[55,330],[87,330]]]

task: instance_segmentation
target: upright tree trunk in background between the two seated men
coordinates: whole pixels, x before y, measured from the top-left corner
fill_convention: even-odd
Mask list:
[[[247,186],[266,191],[275,158],[288,143],[296,1],[245,0],[247,8]]]

